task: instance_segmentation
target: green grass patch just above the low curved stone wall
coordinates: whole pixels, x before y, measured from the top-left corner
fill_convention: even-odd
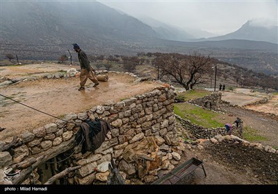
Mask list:
[[[208,109],[202,109],[188,103],[178,103],[174,105],[174,113],[181,118],[189,119],[192,123],[204,127],[224,127],[227,121],[219,121],[220,113],[211,112]]]

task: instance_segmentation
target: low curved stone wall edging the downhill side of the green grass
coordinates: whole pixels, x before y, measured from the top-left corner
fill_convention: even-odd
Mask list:
[[[197,139],[211,139],[213,138],[213,136],[218,134],[221,135],[227,134],[225,127],[206,128],[201,125],[195,125],[194,123],[191,123],[189,120],[181,118],[181,116],[178,115],[175,116],[176,118],[179,119],[181,125],[183,125],[183,127],[185,127],[186,130],[189,130]],[[240,123],[238,127],[234,126],[232,134],[242,137],[243,123]]]

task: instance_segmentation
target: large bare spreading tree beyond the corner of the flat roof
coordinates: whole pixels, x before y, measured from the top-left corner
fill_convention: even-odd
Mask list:
[[[204,82],[203,77],[211,68],[211,58],[197,52],[193,55],[163,54],[154,60],[157,69],[173,78],[186,90]]]

